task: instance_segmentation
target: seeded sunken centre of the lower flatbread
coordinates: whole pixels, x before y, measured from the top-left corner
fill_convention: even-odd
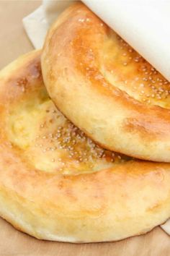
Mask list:
[[[59,171],[69,172],[70,164],[76,164],[73,169],[82,166],[81,168],[84,170],[91,170],[95,166],[97,168],[100,161],[104,165],[120,161],[121,157],[118,157],[117,153],[100,148],[89,137],[86,137],[84,132],[64,119],[62,114],[59,114],[58,117],[57,110],[53,111],[49,108],[48,110],[45,110],[45,123],[40,125],[40,135],[36,137],[35,146],[37,149],[40,148],[40,152],[45,158],[50,158],[52,163],[55,162],[55,168],[59,165]],[[64,121],[61,122],[61,125],[54,127],[50,120],[59,120],[58,118],[64,119]],[[47,133],[49,130],[50,132]],[[122,158],[124,159],[124,157]]]

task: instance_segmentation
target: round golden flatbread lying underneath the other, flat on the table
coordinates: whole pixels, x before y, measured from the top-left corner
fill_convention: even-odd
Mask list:
[[[103,150],[50,100],[40,51],[0,73],[0,216],[39,239],[102,242],[170,216],[170,164]]]

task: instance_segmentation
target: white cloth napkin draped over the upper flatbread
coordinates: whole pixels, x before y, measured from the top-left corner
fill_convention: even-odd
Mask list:
[[[170,81],[169,0],[83,0],[93,12]],[[35,48],[41,48],[50,24],[73,1],[43,0],[23,24]],[[161,226],[170,234],[170,220]]]

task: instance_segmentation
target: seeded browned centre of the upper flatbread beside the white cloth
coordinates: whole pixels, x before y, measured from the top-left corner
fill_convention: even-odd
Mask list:
[[[114,82],[117,88],[145,104],[170,108],[170,82],[119,35],[116,35],[116,38],[118,41],[114,42],[114,46],[118,50],[116,54],[115,51],[113,54],[111,52],[106,66],[107,70],[112,70],[110,73],[114,74],[113,78],[108,77],[109,82]],[[120,70],[120,73],[117,70]]]

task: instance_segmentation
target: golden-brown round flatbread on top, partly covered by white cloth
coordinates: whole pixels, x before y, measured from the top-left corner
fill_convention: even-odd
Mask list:
[[[84,4],[50,28],[42,74],[55,105],[99,145],[170,161],[169,82]]]

